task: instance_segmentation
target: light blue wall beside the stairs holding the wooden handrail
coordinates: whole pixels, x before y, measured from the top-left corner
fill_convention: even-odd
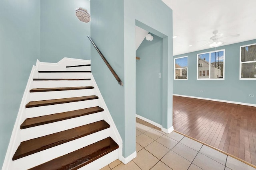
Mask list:
[[[124,81],[124,2],[93,0],[91,10],[91,38]],[[93,46],[91,54],[93,76],[124,140],[124,87],[118,84]]]

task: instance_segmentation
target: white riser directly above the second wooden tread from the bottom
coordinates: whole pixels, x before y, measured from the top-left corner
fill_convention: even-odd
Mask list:
[[[63,121],[58,121],[54,123],[48,123],[45,125],[40,125],[36,127],[30,127],[26,129],[21,129],[21,141],[27,141],[29,139],[34,139],[37,137],[50,135],[52,133],[57,133],[60,131],[65,131],[72,129],[74,127],[79,127],[89,123],[102,120],[102,112],[93,113],[90,115],[80,116],[72,119],[67,119]]]

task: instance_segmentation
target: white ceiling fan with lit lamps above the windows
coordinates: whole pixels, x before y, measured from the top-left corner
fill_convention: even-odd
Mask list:
[[[218,47],[218,46],[225,43],[220,38],[238,37],[240,35],[240,34],[235,34],[235,35],[228,35],[228,36],[222,37],[224,34],[222,34],[222,33],[218,34],[218,30],[213,31],[212,33],[214,34],[214,36],[210,37],[210,41],[209,40],[203,40],[203,41],[209,41],[208,43],[205,43],[204,45],[209,44],[209,47]],[[204,46],[204,45],[202,45],[202,46]]]

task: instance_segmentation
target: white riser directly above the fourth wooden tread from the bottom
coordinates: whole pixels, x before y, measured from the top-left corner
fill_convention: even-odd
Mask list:
[[[30,93],[30,101],[73,98],[73,97],[81,97],[81,96],[91,96],[94,94],[95,94],[94,89],[63,90],[63,91],[53,91],[53,92],[33,92],[33,93]]]

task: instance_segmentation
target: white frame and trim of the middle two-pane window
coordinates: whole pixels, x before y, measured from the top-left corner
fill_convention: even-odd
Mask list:
[[[210,78],[211,76],[211,69],[210,69],[210,61],[211,61],[211,53],[215,53],[215,52],[219,52],[219,51],[223,51],[223,78]],[[209,78],[198,78],[199,76],[199,72],[198,72],[198,57],[199,55],[202,55],[202,54],[207,54],[209,53]],[[206,53],[200,53],[200,54],[197,54],[196,55],[196,80],[225,80],[225,49],[221,49],[221,50],[214,50],[214,51],[209,51],[209,52],[206,52]],[[206,74],[206,73],[205,73]],[[207,75],[207,74],[206,74]]]

